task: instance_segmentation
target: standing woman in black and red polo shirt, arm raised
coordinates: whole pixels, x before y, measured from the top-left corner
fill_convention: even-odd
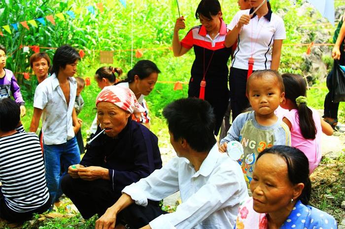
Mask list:
[[[224,46],[227,26],[222,19],[218,0],[201,0],[195,17],[201,25],[193,27],[180,41],[178,31],[185,28],[183,16],[176,20],[173,32],[173,54],[179,57],[194,49],[195,60],[191,69],[188,97],[203,98],[213,107],[216,118],[214,134],[218,134],[228,106],[228,60],[231,48]],[[205,77],[204,77],[205,76]],[[204,88],[201,84],[206,82]],[[205,84],[204,84],[205,85]]]

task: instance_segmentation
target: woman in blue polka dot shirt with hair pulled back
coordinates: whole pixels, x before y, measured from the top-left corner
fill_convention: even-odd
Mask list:
[[[309,164],[299,149],[277,145],[260,153],[250,190],[235,229],[337,229],[333,216],[307,205]]]

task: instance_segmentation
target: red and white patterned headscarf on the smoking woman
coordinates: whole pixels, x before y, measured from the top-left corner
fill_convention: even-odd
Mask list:
[[[131,114],[145,111],[131,89],[116,85],[104,87],[96,98],[96,106],[99,102],[111,102]]]

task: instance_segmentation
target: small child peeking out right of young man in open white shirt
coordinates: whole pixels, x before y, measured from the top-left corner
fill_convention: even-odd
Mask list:
[[[79,115],[80,111],[84,107],[84,99],[81,97],[80,93],[85,87],[85,80],[80,77],[75,77],[75,79],[77,80],[77,94],[75,95],[74,108],[77,115]],[[78,118],[78,122],[80,125],[82,124],[82,120],[79,118]],[[76,134],[76,138],[77,138],[80,154],[83,154],[84,142],[83,142],[83,136],[81,134],[81,126],[80,126],[79,131]]]

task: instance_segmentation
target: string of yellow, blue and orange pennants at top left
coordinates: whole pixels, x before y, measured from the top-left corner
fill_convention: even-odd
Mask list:
[[[125,1],[125,3],[126,3],[126,1]],[[101,13],[103,13],[104,6],[103,6],[102,2],[96,3],[96,7],[98,8],[98,10]],[[86,9],[90,13],[96,14],[95,7],[93,5],[86,6]],[[5,30],[9,34],[12,34],[11,27],[13,28],[14,31],[18,31],[19,30],[19,27],[18,27],[19,24],[22,27],[24,27],[25,29],[27,29],[27,30],[30,30],[29,25],[31,25],[32,27],[38,28],[37,22],[39,22],[43,26],[46,26],[47,22],[50,22],[51,24],[53,24],[55,26],[56,25],[56,22],[55,22],[56,18],[58,18],[58,19],[60,19],[62,21],[66,21],[66,18],[65,18],[64,14],[67,14],[71,19],[75,19],[75,13],[72,10],[68,10],[68,11],[65,11],[65,12],[51,14],[51,15],[47,15],[47,16],[44,16],[44,17],[40,17],[40,18],[35,18],[35,19],[27,20],[27,21],[16,22],[16,23],[12,23],[12,24],[9,24],[9,25],[4,25],[4,26],[1,26],[0,28]],[[2,33],[1,29],[0,29],[0,36],[3,36],[3,33]]]

